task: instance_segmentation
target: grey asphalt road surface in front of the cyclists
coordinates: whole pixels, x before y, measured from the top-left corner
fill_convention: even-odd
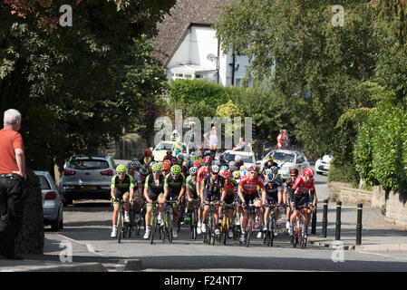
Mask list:
[[[322,208],[323,199],[328,197],[326,177],[317,175],[315,181]],[[291,247],[284,233],[276,237],[274,247],[263,247],[256,237],[251,247],[241,247],[233,240],[228,247],[207,246],[202,240],[190,240],[186,226],[172,244],[159,241],[151,246],[142,240],[141,233],[141,237],[124,239],[119,245],[110,234],[110,203],[88,200],[65,208],[63,230],[58,233],[47,230],[45,236],[53,240],[55,252],[63,239],[72,241],[75,247],[82,246],[77,252],[73,247],[73,262],[87,250],[95,258],[106,259],[111,269],[125,259],[140,258],[144,271],[407,271],[405,252],[338,251],[314,245],[301,250]],[[334,262],[333,256],[334,260],[344,262]]]

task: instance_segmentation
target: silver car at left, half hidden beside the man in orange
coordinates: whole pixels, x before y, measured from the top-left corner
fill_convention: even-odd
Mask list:
[[[51,225],[51,230],[63,228],[63,201],[53,177],[48,171],[34,170],[40,179],[43,196],[44,225]]]

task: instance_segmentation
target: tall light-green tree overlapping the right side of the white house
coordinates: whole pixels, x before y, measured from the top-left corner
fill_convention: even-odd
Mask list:
[[[343,27],[331,23],[337,4],[344,5]],[[253,0],[226,6],[216,27],[224,52],[252,60],[255,80],[274,78],[293,137],[322,155],[334,147],[345,111],[373,106],[357,87],[374,74],[375,14],[361,1]]]

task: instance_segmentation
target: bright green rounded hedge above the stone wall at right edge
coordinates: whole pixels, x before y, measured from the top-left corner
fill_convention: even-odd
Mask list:
[[[354,164],[369,184],[407,191],[406,123],[401,105],[382,102],[363,124],[354,146]]]

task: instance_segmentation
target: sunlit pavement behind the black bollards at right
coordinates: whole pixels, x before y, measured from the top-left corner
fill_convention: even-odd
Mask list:
[[[309,235],[310,244],[332,247],[335,241],[336,203],[328,204],[327,235],[322,237],[323,202],[318,202],[316,235]],[[363,207],[362,245],[356,246],[356,206],[342,206],[341,239],[344,249],[370,251],[407,251],[407,229],[398,227],[383,217],[379,209]],[[309,226],[311,232],[311,224]]]

